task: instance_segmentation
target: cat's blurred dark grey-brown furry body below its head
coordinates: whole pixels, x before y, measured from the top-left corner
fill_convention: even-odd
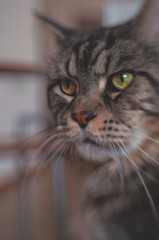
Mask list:
[[[153,171],[153,169],[152,169]],[[154,171],[153,171],[154,173]],[[94,191],[90,187],[87,189],[86,205],[85,205],[85,217],[91,216],[88,223],[85,226],[90,226],[88,232],[86,231],[83,239],[98,239],[98,240],[148,240],[159,239],[159,226],[155,216],[152,213],[152,208],[147,199],[147,195],[142,186],[139,186],[138,179],[129,179],[129,183],[125,186],[124,193],[121,192],[120,183],[116,181],[116,187],[118,191],[109,192],[112,187],[112,181],[105,176],[104,183],[101,181],[98,183],[98,190],[102,188],[102,184],[105,188],[101,193]],[[157,176],[156,176],[157,177]],[[153,180],[149,184],[145,179],[147,188],[150,190],[150,194],[158,211],[158,186]],[[93,181],[92,181],[93,183]],[[96,182],[94,181],[94,184]],[[114,183],[114,182],[113,182]],[[132,184],[132,186],[131,186]],[[156,185],[156,186],[154,186]],[[97,187],[97,185],[96,185]],[[153,187],[153,189],[152,189]],[[108,189],[108,190],[107,190]],[[100,192],[100,190],[99,190]],[[91,222],[89,224],[89,221]]]

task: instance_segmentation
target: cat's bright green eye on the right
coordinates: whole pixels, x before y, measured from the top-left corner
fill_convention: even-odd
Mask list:
[[[132,73],[119,73],[112,79],[113,85],[119,89],[124,90],[133,81],[134,75]]]

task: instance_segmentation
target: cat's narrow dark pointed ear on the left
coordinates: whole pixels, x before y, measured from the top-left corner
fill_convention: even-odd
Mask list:
[[[66,37],[71,36],[75,31],[61,26],[60,24],[52,21],[50,18],[44,16],[43,14],[35,11],[35,16],[44,22],[50,30],[58,37],[59,39],[65,39]]]

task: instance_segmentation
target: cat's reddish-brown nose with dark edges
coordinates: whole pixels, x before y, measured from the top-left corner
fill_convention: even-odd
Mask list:
[[[72,113],[72,118],[78,122],[81,128],[85,128],[90,120],[96,115],[90,113]]]

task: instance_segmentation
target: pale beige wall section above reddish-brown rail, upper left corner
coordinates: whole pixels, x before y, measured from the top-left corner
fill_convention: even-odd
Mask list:
[[[0,61],[36,61],[33,40],[34,0],[0,1]]]

